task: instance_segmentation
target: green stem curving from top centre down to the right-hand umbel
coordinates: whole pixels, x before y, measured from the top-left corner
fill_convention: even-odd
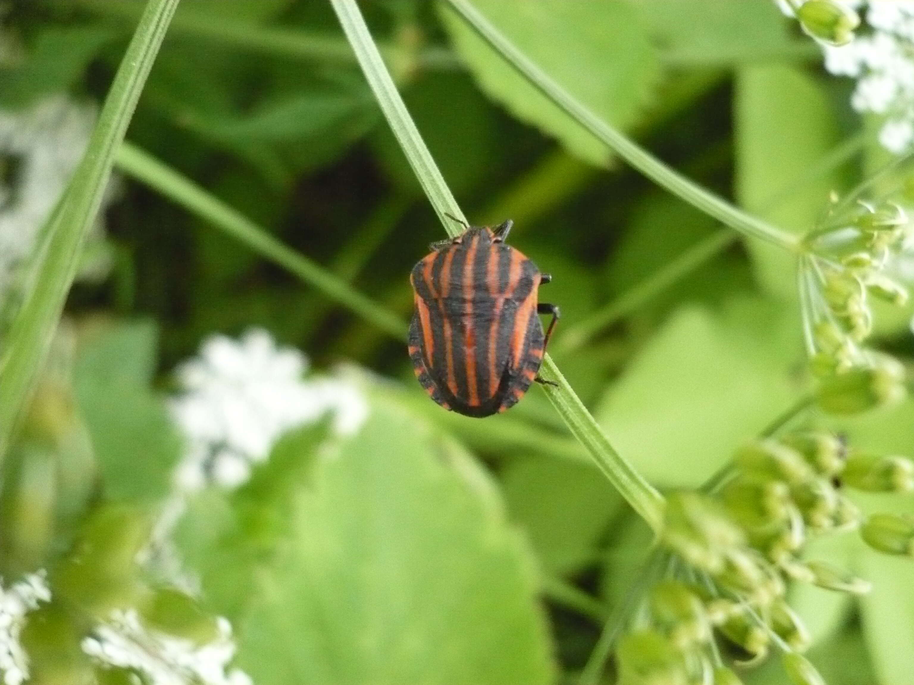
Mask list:
[[[650,178],[654,183],[661,185],[673,195],[683,199],[690,205],[714,216],[722,224],[733,228],[748,237],[757,237],[780,248],[791,251],[801,249],[798,237],[793,236],[780,228],[773,227],[756,216],[743,212],[738,207],[730,205],[723,199],[709,193],[700,185],[693,183],[684,176],[677,174],[673,169],[656,159],[643,148],[632,142],[622,132],[612,128],[606,121],[585,107],[579,100],[572,97],[556,81],[547,76],[530,59],[526,58],[511,41],[492,25],[468,0],[444,0],[452,9],[467,22],[480,37],[489,43],[507,62],[509,62],[522,76],[537,87],[544,95],[555,102],[569,116],[578,121],[585,129],[604,142],[612,152],[618,154],[632,167]]]

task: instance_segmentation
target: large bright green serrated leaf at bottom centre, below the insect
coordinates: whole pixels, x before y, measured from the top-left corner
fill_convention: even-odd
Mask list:
[[[547,683],[532,565],[441,438],[393,407],[314,464],[246,592],[259,683]]]

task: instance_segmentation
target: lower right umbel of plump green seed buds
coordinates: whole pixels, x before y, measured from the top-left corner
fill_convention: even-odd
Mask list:
[[[874,549],[914,556],[914,519],[864,519],[845,489],[914,490],[914,462],[858,452],[831,433],[793,431],[739,450],[705,493],[667,499],[660,561],[667,569],[643,598],[617,647],[627,685],[739,683],[743,666],[780,652],[797,685],[823,683],[802,657],[809,631],[788,604],[791,582],[864,594],[870,585],[825,561],[805,558],[813,537],[862,526]]]

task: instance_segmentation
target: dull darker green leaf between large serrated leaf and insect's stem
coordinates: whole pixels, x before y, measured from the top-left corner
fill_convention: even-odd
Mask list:
[[[508,511],[530,537],[544,569],[571,574],[593,562],[622,498],[585,463],[518,458],[502,471]]]

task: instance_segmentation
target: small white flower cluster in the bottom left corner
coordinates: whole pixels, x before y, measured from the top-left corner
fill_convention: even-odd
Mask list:
[[[8,589],[0,585],[0,678],[4,685],[20,685],[28,679],[28,658],[19,636],[28,612],[50,599],[43,573],[28,574]]]

